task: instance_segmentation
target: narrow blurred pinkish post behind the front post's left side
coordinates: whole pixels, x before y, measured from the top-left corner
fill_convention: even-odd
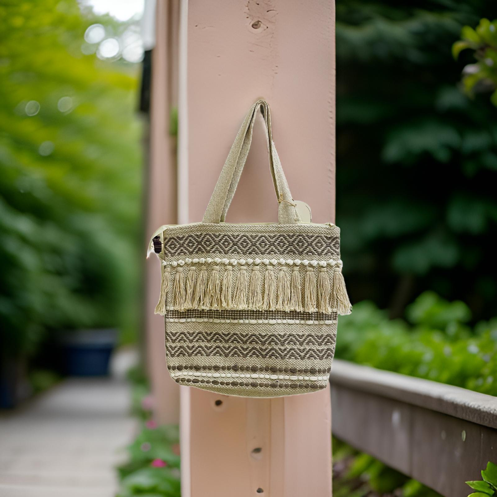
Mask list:
[[[176,105],[178,2],[158,1],[156,45],[152,51],[150,157],[147,174],[147,229],[150,236],[163,224],[177,222],[176,137],[169,132],[171,108]],[[144,246],[145,249],[146,246]],[[146,264],[147,369],[155,399],[155,416],[161,424],[179,419],[179,388],[169,377],[164,345],[164,318],[154,315],[161,287],[157,257]]]

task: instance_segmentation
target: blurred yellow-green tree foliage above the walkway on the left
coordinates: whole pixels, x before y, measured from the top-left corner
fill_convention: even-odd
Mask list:
[[[0,328],[8,355],[29,353],[50,330],[135,324],[138,67],[83,55],[93,22],[76,1],[0,5]]]

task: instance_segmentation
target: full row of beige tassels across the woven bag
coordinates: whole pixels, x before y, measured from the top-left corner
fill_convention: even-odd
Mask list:
[[[251,309],[308,313],[319,311],[331,314],[336,308],[341,315],[351,312],[341,263],[332,269],[326,266],[317,269],[315,266],[306,266],[303,286],[300,273],[304,269],[303,266],[293,266],[291,275],[288,269],[280,268],[277,277],[274,268],[267,266],[263,285],[261,271],[264,266],[259,264],[254,264],[251,268],[240,265],[236,281],[232,265],[226,266],[222,277],[219,265],[211,267],[210,275],[205,265],[201,266],[198,275],[193,265],[188,269],[181,266],[175,268],[171,309]],[[166,265],[162,272],[159,302],[155,308],[155,313],[163,316],[166,315],[170,277],[171,266]]]

